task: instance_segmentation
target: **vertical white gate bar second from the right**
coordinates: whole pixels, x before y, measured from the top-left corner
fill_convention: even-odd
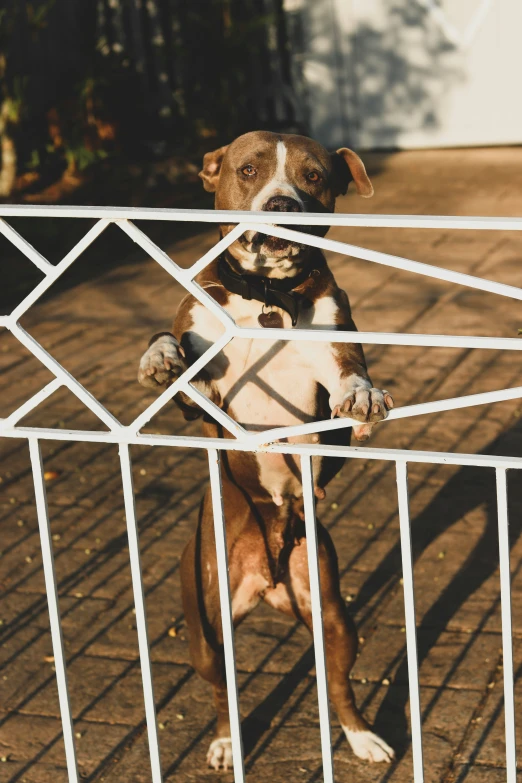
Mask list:
[[[413,753],[413,779],[424,780],[422,754],[422,718],[419,693],[419,663],[417,658],[417,625],[415,621],[415,589],[413,582],[413,556],[411,549],[410,509],[408,496],[408,467],[406,462],[395,463],[397,471],[397,497],[401,529],[402,581],[404,589],[404,614],[406,618],[406,649],[408,656],[408,681],[410,686],[411,745]]]

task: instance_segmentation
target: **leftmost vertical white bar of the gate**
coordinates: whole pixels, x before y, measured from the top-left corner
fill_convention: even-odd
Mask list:
[[[69,688],[67,685],[67,669],[65,666],[62,626],[60,622],[60,607],[58,603],[58,587],[56,584],[51,526],[49,523],[49,510],[47,507],[47,493],[45,491],[45,481],[43,475],[42,452],[40,450],[40,443],[36,438],[29,438],[29,454],[31,457],[31,467],[33,471],[38,527],[40,529],[42,564],[45,577],[45,591],[47,593],[47,605],[49,607],[49,621],[51,624],[54,667],[56,669],[56,683],[58,686],[58,700],[60,703],[60,715],[62,718],[63,742],[65,745],[67,773],[69,777],[69,783],[78,783],[78,765],[76,763],[74,729],[71,716],[71,705],[69,702]]]

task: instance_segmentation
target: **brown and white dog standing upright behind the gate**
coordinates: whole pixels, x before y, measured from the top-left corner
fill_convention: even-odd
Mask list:
[[[200,177],[205,189],[215,192],[217,209],[333,212],[336,197],[346,193],[352,180],[359,195],[373,194],[364,165],[351,150],[329,153],[304,136],[261,131],[205,155]],[[231,229],[223,225],[221,234]],[[261,322],[355,330],[348,297],[337,287],[323,254],[300,243],[246,232],[196,281],[239,326],[257,327]],[[265,322],[258,321],[261,314]],[[140,383],[168,385],[222,333],[220,321],[192,295],[186,296],[173,334],[160,333],[149,343],[140,363]],[[234,339],[194,383],[249,431],[350,416],[360,422],[353,427],[355,437],[365,440],[393,406],[388,392],[373,387],[360,345],[275,341],[269,329],[266,340]],[[187,418],[203,416],[206,435],[230,437],[192,400],[178,395],[177,401]],[[349,433],[348,428],[291,440],[348,444]],[[298,462],[280,454],[223,455],[234,624],[263,600],[311,630]],[[314,460],[318,499],[325,496],[324,487],[341,465],[337,459]],[[389,762],[393,750],[371,731],[355,704],[350,670],[357,655],[357,632],[340,593],[333,543],[320,524],[318,537],[330,698],[354,753],[368,761]],[[207,760],[214,769],[227,769],[232,752],[208,489],[197,531],[183,553],[181,580],[192,662],[213,685],[217,708],[216,736]]]

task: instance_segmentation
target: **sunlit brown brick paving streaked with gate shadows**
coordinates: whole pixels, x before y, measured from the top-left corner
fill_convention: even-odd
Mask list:
[[[369,169],[375,198],[347,197],[340,211],[520,214],[522,149],[375,155]],[[215,236],[203,230],[175,241],[172,226],[148,228],[187,265]],[[19,230],[23,233],[21,222]],[[57,292],[22,323],[127,423],[153,399],[135,380],[137,362],[150,334],[169,326],[181,292],[116,232],[111,227],[96,240]],[[337,229],[330,236],[520,284],[522,236],[516,232]],[[63,249],[54,248],[55,257]],[[16,251],[6,252],[5,244],[0,252],[28,271],[13,289],[20,298],[23,285],[30,287],[27,281],[33,279],[29,262],[15,258]],[[330,260],[361,330],[512,337],[522,326],[517,302],[365,261]],[[390,389],[400,405],[521,383],[518,354],[378,346],[368,346],[366,353],[374,382]],[[0,337],[0,366],[2,416],[51,378],[9,334]],[[521,416],[517,401],[419,416],[381,426],[371,444],[520,455]],[[63,390],[24,424],[103,427]],[[198,425],[186,424],[172,406],[149,431],[196,433]],[[0,449],[0,779],[65,783],[27,445],[4,440]],[[49,508],[80,773],[89,783],[149,781],[117,448],[44,442],[42,449],[46,470],[55,474],[48,481]],[[230,773],[205,768],[213,711],[208,687],[190,666],[177,574],[196,524],[206,457],[168,448],[132,452],[165,777],[228,783]],[[514,656],[520,674],[522,489],[517,478],[510,477],[509,491]],[[500,783],[505,746],[493,471],[412,465],[410,494],[426,780]],[[412,779],[412,761],[393,466],[359,460],[347,465],[319,512],[336,543],[343,594],[361,636],[355,689],[368,717],[398,752],[391,767],[359,762],[333,717],[336,779],[402,783]],[[320,780],[307,633],[262,606],[236,638],[248,780]],[[516,701],[520,709],[520,684]]]

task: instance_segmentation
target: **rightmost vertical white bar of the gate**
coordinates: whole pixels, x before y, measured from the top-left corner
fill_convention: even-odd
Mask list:
[[[513,635],[511,627],[511,569],[509,557],[509,517],[507,474],[496,468],[500,594],[502,606],[502,658],[504,664],[504,718],[506,723],[507,783],[516,783],[515,691],[513,681]]]

